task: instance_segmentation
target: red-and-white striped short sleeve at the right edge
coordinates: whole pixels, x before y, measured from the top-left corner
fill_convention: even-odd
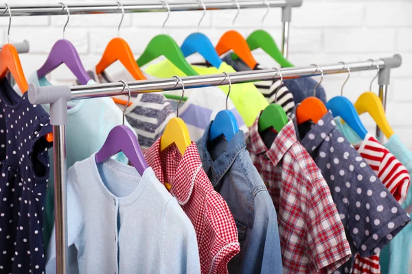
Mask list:
[[[378,174],[396,201],[402,204],[407,199],[411,177],[404,165],[387,149],[385,149],[382,162],[380,162]]]

